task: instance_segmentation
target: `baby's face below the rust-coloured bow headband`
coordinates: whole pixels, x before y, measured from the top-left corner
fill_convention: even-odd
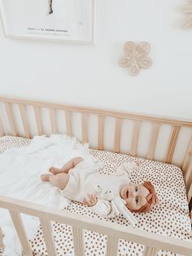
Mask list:
[[[149,193],[149,190],[141,184],[125,183],[120,189],[120,196],[126,201],[129,210],[138,210],[145,205]]]

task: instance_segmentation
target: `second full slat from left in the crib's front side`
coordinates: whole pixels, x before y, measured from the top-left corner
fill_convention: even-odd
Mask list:
[[[46,243],[47,254],[48,256],[55,256],[57,255],[57,253],[55,249],[55,241],[54,241],[51,223],[46,218],[39,218],[39,219],[41,223],[43,237]]]

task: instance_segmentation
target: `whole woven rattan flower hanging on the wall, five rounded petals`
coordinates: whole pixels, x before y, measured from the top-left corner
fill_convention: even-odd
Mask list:
[[[141,68],[150,68],[152,60],[148,55],[151,46],[148,42],[124,43],[124,58],[120,60],[121,67],[128,67],[131,76],[137,76]]]

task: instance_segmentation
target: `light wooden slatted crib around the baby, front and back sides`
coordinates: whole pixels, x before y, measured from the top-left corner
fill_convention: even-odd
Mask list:
[[[89,143],[90,148],[126,152],[131,156],[180,166],[190,204],[192,121],[7,97],[0,97],[0,104],[0,136],[33,138],[34,135],[66,133],[76,135],[83,143]],[[128,229],[114,223],[95,221],[93,218],[72,214],[67,210],[45,209],[41,205],[5,196],[0,196],[0,207],[9,210],[25,255],[32,256],[33,252],[20,213],[34,215],[40,219],[49,256],[56,255],[50,221],[72,226],[76,256],[85,255],[83,229],[107,235],[107,256],[117,255],[119,239],[145,245],[143,253],[145,256],[156,255],[158,249],[192,255],[190,241],[151,234],[133,227]]]

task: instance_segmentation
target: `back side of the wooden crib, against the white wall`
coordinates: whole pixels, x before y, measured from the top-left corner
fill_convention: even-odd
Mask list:
[[[127,153],[192,170],[192,121],[0,97],[0,135],[74,135],[90,148]]]

